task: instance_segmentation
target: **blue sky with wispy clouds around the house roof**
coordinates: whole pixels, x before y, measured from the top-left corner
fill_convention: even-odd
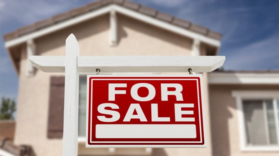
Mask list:
[[[279,70],[278,0],[135,0],[223,34],[225,70]],[[92,0],[0,0],[0,35]],[[0,97],[17,99],[18,77],[0,37]]]

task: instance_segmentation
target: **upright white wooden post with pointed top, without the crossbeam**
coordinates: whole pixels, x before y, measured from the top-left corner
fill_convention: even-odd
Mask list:
[[[63,156],[78,155],[78,56],[78,41],[71,34],[66,39]]]

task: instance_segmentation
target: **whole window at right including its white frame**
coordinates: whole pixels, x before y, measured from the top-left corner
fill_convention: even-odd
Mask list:
[[[241,150],[279,151],[279,91],[233,91]]]

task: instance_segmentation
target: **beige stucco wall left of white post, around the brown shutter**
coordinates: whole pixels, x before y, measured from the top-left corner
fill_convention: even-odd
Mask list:
[[[25,69],[26,50],[23,47],[14,143],[31,145],[37,156],[62,155],[62,140],[47,139],[51,74],[38,71],[35,76],[27,77]]]

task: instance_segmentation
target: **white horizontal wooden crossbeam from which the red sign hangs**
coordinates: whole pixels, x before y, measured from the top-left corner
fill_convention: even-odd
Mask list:
[[[65,72],[64,56],[30,56],[32,65],[44,72]],[[223,65],[224,56],[78,56],[80,73],[211,72]]]

